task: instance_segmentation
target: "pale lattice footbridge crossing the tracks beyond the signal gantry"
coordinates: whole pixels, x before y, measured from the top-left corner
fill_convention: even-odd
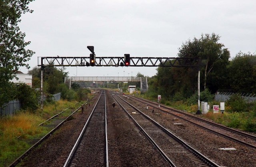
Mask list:
[[[71,87],[72,82],[140,82],[140,90],[148,89],[146,77],[65,77],[65,83]]]

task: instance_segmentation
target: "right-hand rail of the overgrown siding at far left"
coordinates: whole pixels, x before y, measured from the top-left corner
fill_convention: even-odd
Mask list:
[[[89,98],[88,98],[89,99]],[[87,99],[87,101],[88,101]],[[86,102],[87,102],[86,101]],[[84,104],[86,103],[84,102]],[[78,107],[78,109],[80,109],[80,107]],[[58,124],[54,129],[52,129],[49,133],[47,133],[46,135],[44,135],[44,137],[42,137],[38,142],[36,142],[34,145],[32,145],[25,153],[23,153],[22,155],[20,155],[20,157],[18,157],[13,163],[11,163],[9,165],[9,167],[14,167],[15,165],[17,165],[22,158],[24,158],[34,147],[38,146],[40,143],[42,143],[42,141],[44,141],[45,139],[47,139],[54,131],[56,131],[71,115],[73,115],[76,111],[78,111],[78,109],[76,109],[74,112],[72,112],[68,117],[66,117],[66,119],[64,119],[60,124]]]

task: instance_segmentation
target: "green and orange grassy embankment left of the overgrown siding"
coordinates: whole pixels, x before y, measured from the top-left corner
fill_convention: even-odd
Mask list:
[[[44,106],[43,111],[38,109],[35,113],[19,111],[13,116],[0,118],[0,167],[4,161],[12,160],[24,153],[29,145],[23,139],[32,139],[48,133],[46,128],[38,126],[43,121],[56,115],[66,108],[68,110],[79,107],[81,103],[75,105],[75,101],[59,100],[55,104]]]

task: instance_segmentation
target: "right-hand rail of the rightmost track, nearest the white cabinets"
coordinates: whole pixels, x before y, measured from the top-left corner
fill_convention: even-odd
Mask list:
[[[135,97],[133,97],[133,96],[131,96],[131,95],[129,95],[129,97],[132,97],[133,99],[136,99],[136,100],[141,99],[141,98],[139,98],[139,97],[136,97],[136,98],[135,98]],[[147,101],[147,102],[149,102],[149,103],[153,103],[153,104],[155,104],[155,105],[159,105],[158,103],[154,103],[154,102],[149,101],[149,100],[146,100],[146,99],[141,99],[141,100]],[[138,100],[138,101],[140,101],[140,100]],[[144,103],[143,101],[141,101],[141,102]],[[226,129],[226,130],[232,131],[232,132],[234,132],[234,133],[237,133],[237,134],[239,134],[239,135],[244,135],[244,136],[246,136],[246,137],[250,137],[250,138],[252,138],[252,139],[256,139],[256,136],[254,136],[254,135],[251,135],[251,134],[248,134],[248,133],[245,133],[245,132],[242,132],[242,131],[238,131],[238,130],[236,130],[236,129],[232,129],[232,128],[226,127],[226,126],[224,126],[224,125],[219,125],[219,124],[217,124],[217,123],[213,123],[213,122],[207,121],[207,120],[205,120],[205,119],[196,117],[196,116],[194,116],[194,115],[190,115],[190,114],[188,114],[188,113],[184,113],[184,112],[182,112],[182,111],[178,111],[178,110],[173,109],[173,108],[170,108],[170,107],[166,107],[166,106],[164,106],[164,105],[160,105],[160,107],[163,107],[163,108],[166,108],[166,109],[170,109],[170,110],[174,110],[174,111],[176,111],[176,112],[178,112],[178,113],[182,113],[182,114],[187,115],[187,116],[189,116],[189,117],[193,117],[194,119],[198,119],[198,120],[200,120],[200,121],[203,121],[203,122],[209,123],[209,124],[211,124],[211,125],[220,127],[220,128],[222,128],[222,129]],[[169,113],[169,112],[168,112],[168,113]]]

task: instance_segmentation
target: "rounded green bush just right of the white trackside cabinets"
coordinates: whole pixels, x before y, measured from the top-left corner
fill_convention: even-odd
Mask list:
[[[228,111],[230,112],[246,112],[249,111],[248,105],[246,101],[242,98],[242,96],[233,94],[226,101],[226,105],[230,106]]]

